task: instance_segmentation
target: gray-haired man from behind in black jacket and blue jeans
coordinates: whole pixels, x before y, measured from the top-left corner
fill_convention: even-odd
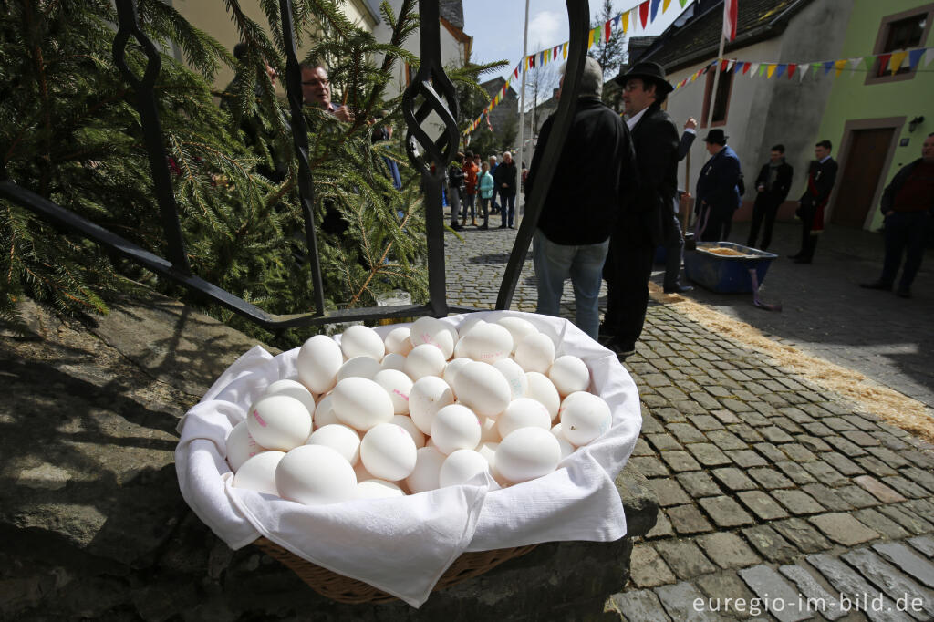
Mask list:
[[[560,86],[566,68],[567,64],[561,66]],[[571,130],[555,175],[536,179],[554,125],[552,115],[542,125],[526,192],[531,193],[536,183],[548,187],[532,237],[538,313],[559,315],[564,281],[570,277],[575,323],[596,339],[603,262],[610,247],[610,233],[625,208],[627,191],[636,182],[636,171],[629,129],[616,112],[601,102],[603,72],[597,61],[587,58],[580,83]]]

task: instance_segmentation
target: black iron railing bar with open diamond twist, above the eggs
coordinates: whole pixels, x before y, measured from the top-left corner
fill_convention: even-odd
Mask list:
[[[409,160],[421,173],[422,186],[425,190],[429,304],[432,307],[432,316],[442,318],[449,312],[445,282],[442,185],[447,163],[454,158],[460,142],[457,120],[455,120],[458,114],[458,100],[454,85],[447,78],[441,61],[441,21],[438,0],[419,1],[418,23],[421,64],[412,83],[403,92],[403,117],[408,127],[405,134],[405,150]],[[423,103],[416,110],[416,97],[419,95]],[[435,140],[432,140],[420,126],[420,123],[427,119],[432,111],[445,124],[444,133]],[[421,148],[423,154],[419,153],[417,148]]]

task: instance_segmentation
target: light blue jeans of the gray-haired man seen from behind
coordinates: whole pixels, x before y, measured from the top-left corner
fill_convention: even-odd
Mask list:
[[[536,229],[532,237],[532,261],[538,280],[537,312],[559,317],[561,292],[564,290],[564,281],[570,276],[577,307],[577,328],[596,340],[600,329],[598,300],[603,262],[606,261],[609,248],[609,239],[599,244],[581,246],[555,244],[540,229]]]

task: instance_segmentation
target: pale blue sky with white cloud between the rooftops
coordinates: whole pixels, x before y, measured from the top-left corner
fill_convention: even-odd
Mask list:
[[[613,15],[638,7],[641,0],[613,0]],[[508,74],[522,58],[522,31],[525,20],[523,0],[464,0],[464,32],[474,37],[471,60],[474,63],[491,63],[502,59],[509,64],[498,74],[480,78],[485,81]],[[602,0],[590,0],[590,19],[593,21],[601,12]],[[668,10],[656,21],[633,28],[630,21],[628,36],[659,35],[681,13],[678,0],[672,0]],[[568,40],[568,13],[561,0],[530,0],[529,3],[529,53],[553,48]],[[605,77],[605,78],[612,78]],[[555,85],[557,86],[557,84]],[[517,85],[518,88],[518,85]]]

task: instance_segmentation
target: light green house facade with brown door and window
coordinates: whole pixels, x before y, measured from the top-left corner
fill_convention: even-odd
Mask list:
[[[833,143],[840,163],[828,210],[831,225],[879,229],[884,187],[901,166],[921,157],[925,137],[934,132],[934,63],[926,64],[934,49],[913,69],[905,53],[934,47],[932,18],[934,3],[854,0],[840,58],[864,60],[856,70],[851,62],[836,78],[836,70],[826,76],[833,86],[814,136],[814,142]],[[895,73],[893,66],[899,67]]]

